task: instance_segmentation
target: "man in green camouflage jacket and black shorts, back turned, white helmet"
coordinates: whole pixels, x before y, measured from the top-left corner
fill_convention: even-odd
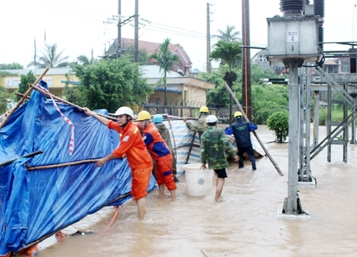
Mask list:
[[[208,129],[201,137],[201,168],[206,169],[206,163],[208,163],[208,168],[213,169],[217,175],[215,201],[218,201],[218,198],[221,196],[224,178],[227,177],[226,168],[228,167],[228,161],[226,150],[231,153],[234,161],[239,160],[226,133],[223,129],[217,128],[217,121],[216,116],[208,115],[206,118]]]

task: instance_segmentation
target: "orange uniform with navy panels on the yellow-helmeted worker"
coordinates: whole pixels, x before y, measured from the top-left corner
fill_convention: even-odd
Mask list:
[[[144,143],[151,157],[156,161],[156,181],[158,185],[165,183],[169,190],[175,190],[175,178],[172,172],[172,154],[159,130],[152,123],[144,129]]]

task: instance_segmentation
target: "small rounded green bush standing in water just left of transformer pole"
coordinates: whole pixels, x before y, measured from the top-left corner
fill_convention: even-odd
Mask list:
[[[276,141],[283,143],[288,136],[289,129],[289,115],[288,111],[278,111],[269,116],[267,121],[268,129],[275,132]]]

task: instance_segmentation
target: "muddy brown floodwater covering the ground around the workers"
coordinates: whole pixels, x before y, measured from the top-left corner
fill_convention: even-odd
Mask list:
[[[257,133],[264,143],[274,139],[266,126]],[[320,141],[325,134],[321,126]],[[316,188],[298,192],[310,213],[306,220],[278,218],[288,196],[288,143],[268,143],[284,176],[266,157],[257,159],[257,171],[248,160],[241,169],[232,162],[219,203],[213,201],[214,186],[208,196],[186,195],[180,176],[176,201],[168,191],[165,199],[156,190],[149,193],[145,221],[137,219],[133,201],[106,207],[75,225],[94,233],[51,246],[44,241],[37,256],[357,256],[356,147],[348,145],[348,163],[338,145],[332,146],[331,163],[326,149],[311,161]]]

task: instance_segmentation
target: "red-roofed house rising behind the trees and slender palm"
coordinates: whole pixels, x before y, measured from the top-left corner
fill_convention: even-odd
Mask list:
[[[134,39],[121,38],[121,47],[127,47],[131,44],[134,44]],[[149,55],[159,51],[159,46],[159,43],[149,41],[139,40],[138,42],[138,48],[145,49]],[[183,47],[180,46],[180,44],[169,44],[169,50],[177,54],[178,58],[180,59],[178,61],[178,64],[176,64],[172,70],[183,75],[190,75],[192,63],[190,61],[190,58],[186,54],[186,51],[183,50]],[[152,63],[156,65],[158,64],[154,59],[152,60]]]

